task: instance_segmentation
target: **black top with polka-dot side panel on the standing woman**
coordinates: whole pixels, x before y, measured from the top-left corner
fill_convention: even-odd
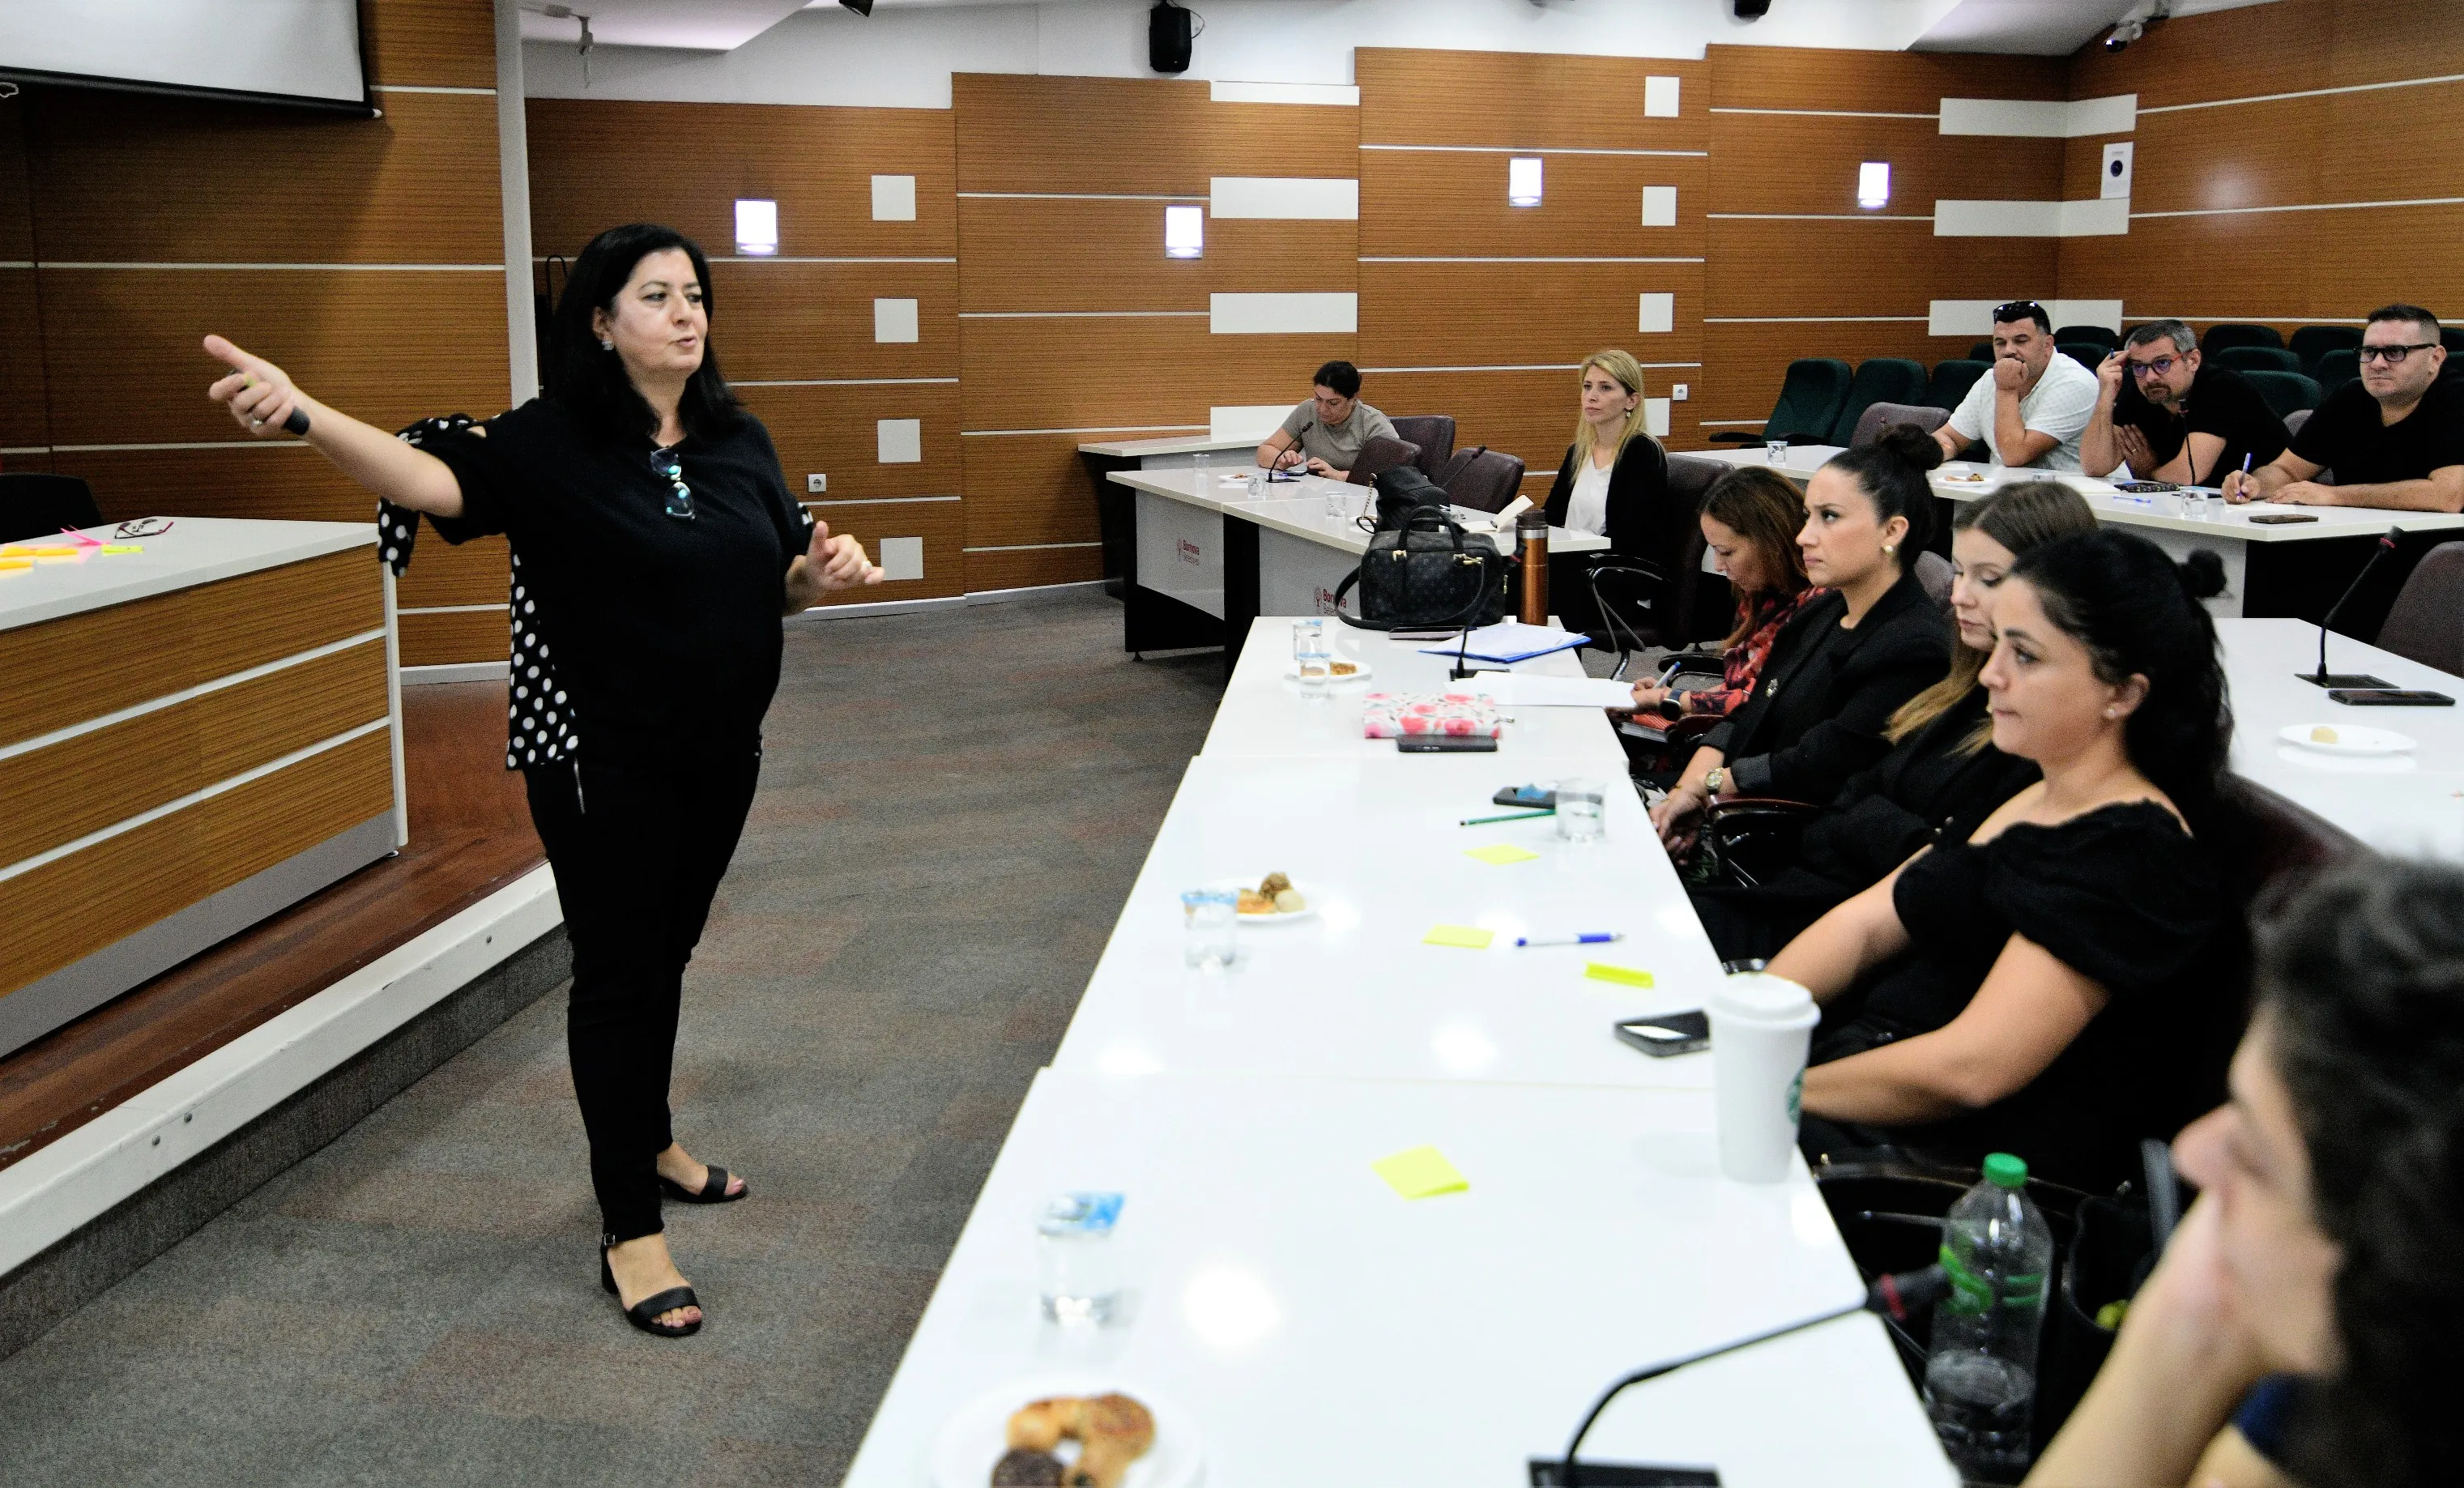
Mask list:
[[[759,746],[786,569],[808,532],[759,419],[673,451],[692,520],[668,515],[648,439],[609,443],[547,399],[419,446],[461,483],[463,515],[431,517],[446,542],[513,540],[508,764],[584,746],[631,764]]]

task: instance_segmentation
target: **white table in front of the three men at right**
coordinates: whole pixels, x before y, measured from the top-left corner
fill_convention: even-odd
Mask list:
[[[1823,461],[1841,453],[1836,443],[1791,443],[1781,463],[1772,463],[1764,448],[1695,451],[1727,466],[1764,466],[1791,480],[1806,480]],[[2464,515],[2454,512],[2397,512],[2385,507],[2306,507],[2306,505],[2225,505],[2220,498],[2195,495],[2129,495],[2112,480],[2080,475],[2075,471],[2013,471],[2008,466],[1976,466],[1949,461],[1932,473],[1934,495],[1947,500],[1976,500],[2011,480],[2060,480],[2087,498],[2099,522],[2129,527],[2173,559],[2205,547],[2225,564],[2225,591],[2208,601],[2218,618],[2284,616],[2314,601],[2321,584],[2304,574],[2304,564],[2336,564],[2348,581],[2368,562],[2368,540],[2400,527],[2405,532],[2459,532]],[[2259,515],[2304,515],[2314,522],[2255,522]],[[2333,557],[2304,549],[2306,542],[2341,542]],[[2328,581],[2333,599],[2343,584]],[[2309,611],[2304,611],[2309,613]]]

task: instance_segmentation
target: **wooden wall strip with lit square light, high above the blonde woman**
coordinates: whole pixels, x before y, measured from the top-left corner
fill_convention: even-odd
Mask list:
[[[1700,155],[1545,155],[1538,207],[1506,202],[1488,150],[1360,150],[1363,256],[1700,259]],[[1676,227],[1643,227],[1643,187],[1678,187]]]

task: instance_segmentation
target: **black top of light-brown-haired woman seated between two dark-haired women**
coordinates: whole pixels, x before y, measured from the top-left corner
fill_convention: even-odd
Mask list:
[[[1841,899],[1882,882],[1929,843],[1966,843],[1993,811],[2043,774],[1988,742],[1969,737],[1986,719],[1986,690],[1971,687],[1934,722],[1902,739],[1882,764],[1860,771],[1806,823],[1799,867],[1841,887]]]

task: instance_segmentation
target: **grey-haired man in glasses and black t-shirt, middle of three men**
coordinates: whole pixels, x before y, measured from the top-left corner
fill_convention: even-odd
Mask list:
[[[2181,320],[2141,325],[2097,367],[2097,411],[2080,434],[2089,475],[2129,463],[2141,480],[2215,485],[2279,453],[2284,419],[2232,367],[2203,367]]]

